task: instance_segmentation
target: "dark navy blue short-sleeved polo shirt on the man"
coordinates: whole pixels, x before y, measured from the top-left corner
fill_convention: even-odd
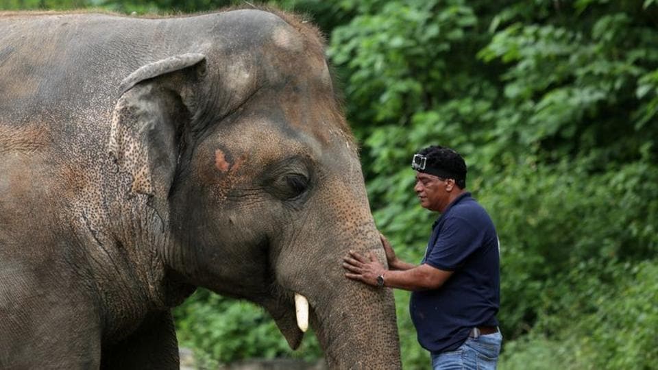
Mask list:
[[[498,236],[470,193],[455,199],[434,223],[422,263],[453,271],[440,288],[411,293],[411,319],[425,349],[452,351],[471,328],[498,325]]]

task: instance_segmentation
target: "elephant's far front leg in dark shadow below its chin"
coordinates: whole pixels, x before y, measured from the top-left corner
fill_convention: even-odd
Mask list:
[[[135,332],[103,348],[101,369],[178,369],[178,341],[171,312],[151,312]]]

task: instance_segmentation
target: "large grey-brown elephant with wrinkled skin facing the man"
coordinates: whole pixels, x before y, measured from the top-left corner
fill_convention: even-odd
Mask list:
[[[400,367],[385,260],[315,29],[285,14],[0,16],[0,368],[174,369],[170,308],[293,294],[332,368]]]

